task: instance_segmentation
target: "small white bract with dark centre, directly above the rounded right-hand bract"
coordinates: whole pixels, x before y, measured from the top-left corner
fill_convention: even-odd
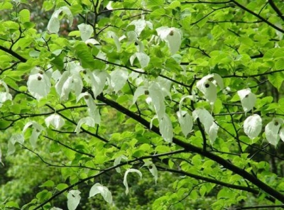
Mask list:
[[[256,95],[249,88],[239,90],[238,95],[241,99],[241,106],[243,106],[244,112],[251,111],[256,104]]]

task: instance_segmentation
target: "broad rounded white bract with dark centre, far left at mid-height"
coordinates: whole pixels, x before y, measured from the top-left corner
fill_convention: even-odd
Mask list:
[[[27,86],[31,95],[39,101],[50,92],[50,78],[38,67],[35,67],[28,77]]]

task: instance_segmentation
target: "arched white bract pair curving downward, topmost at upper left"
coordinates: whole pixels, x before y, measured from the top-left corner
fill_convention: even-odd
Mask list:
[[[70,26],[72,26],[73,16],[70,9],[67,6],[62,6],[60,7],[60,9],[54,11],[53,15],[50,18],[50,21],[48,22],[48,31],[50,33],[58,33],[60,28],[59,16],[62,12],[67,16],[69,24]]]

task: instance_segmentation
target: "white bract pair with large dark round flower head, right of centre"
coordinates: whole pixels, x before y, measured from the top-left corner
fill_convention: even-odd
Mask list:
[[[219,74],[209,74],[197,82],[197,88],[200,89],[210,104],[214,104],[217,99],[217,85],[220,89],[224,88],[223,79]]]

